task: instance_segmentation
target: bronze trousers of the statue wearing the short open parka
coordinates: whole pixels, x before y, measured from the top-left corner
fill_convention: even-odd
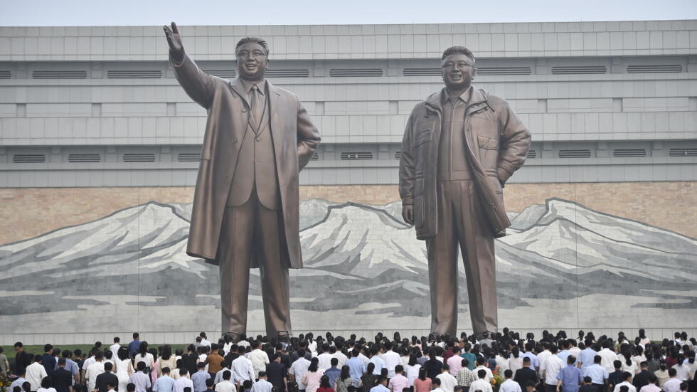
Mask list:
[[[438,233],[426,240],[431,292],[431,331],[456,336],[457,245],[467,275],[469,314],[475,333],[496,332],[494,235],[470,180],[437,183]]]

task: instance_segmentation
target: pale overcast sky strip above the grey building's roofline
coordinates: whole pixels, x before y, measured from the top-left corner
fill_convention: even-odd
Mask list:
[[[245,6],[258,11],[244,13]],[[0,26],[486,23],[697,18],[697,0],[0,0]]]

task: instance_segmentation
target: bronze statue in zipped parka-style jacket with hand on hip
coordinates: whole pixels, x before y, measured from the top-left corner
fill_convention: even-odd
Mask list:
[[[426,240],[431,331],[457,329],[457,245],[476,334],[496,332],[494,238],[511,225],[503,186],[523,166],[530,132],[506,100],[472,87],[474,55],[462,46],[441,59],[445,88],[411,112],[399,171],[402,216]]]

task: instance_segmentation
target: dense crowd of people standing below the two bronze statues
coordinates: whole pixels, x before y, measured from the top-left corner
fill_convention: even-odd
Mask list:
[[[651,341],[592,332],[525,338],[505,329],[479,337],[371,340],[206,334],[186,349],[154,347],[133,334],[122,345],[97,342],[89,353],[46,344],[43,354],[14,345],[10,392],[697,392],[695,338],[676,332]]]

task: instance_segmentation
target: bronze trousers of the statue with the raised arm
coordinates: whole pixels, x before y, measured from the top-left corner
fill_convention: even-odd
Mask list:
[[[266,208],[255,190],[242,206],[225,208],[217,256],[223,333],[247,330],[252,255],[259,266],[267,335],[291,331],[288,265],[281,257],[284,248],[281,211]]]

